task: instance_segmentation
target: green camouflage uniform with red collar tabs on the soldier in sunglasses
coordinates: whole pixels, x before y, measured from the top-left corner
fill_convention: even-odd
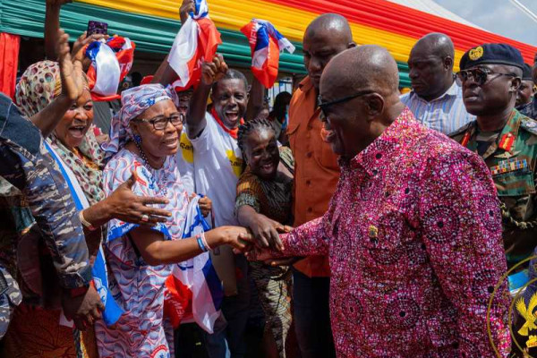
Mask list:
[[[466,148],[477,151],[477,122],[450,134]],[[537,122],[513,110],[496,141],[482,155],[489,166],[502,203],[507,263],[530,256],[537,244]]]

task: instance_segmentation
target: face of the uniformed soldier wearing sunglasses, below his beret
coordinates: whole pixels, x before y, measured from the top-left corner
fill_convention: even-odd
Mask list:
[[[520,80],[508,75],[509,69],[500,64],[480,64],[468,70],[478,67],[491,73],[482,85],[479,85],[474,78],[468,78],[463,82],[466,110],[472,115],[496,115],[509,106],[513,92],[518,90]]]

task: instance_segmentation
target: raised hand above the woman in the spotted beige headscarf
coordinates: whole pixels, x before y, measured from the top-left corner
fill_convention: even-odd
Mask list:
[[[82,62],[77,57],[72,58],[69,48],[69,35],[64,30],[58,30],[56,54],[60,64],[62,79],[62,94],[71,101],[81,97],[84,91],[84,74]]]

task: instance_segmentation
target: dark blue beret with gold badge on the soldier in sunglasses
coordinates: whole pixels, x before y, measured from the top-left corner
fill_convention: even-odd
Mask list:
[[[524,58],[515,47],[507,44],[484,44],[466,51],[461,58],[460,68],[476,66],[478,64],[507,64],[524,69]]]

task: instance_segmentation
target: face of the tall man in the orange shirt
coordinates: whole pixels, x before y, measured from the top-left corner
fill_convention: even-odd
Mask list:
[[[345,51],[351,44],[333,30],[318,30],[304,36],[304,65],[311,78],[315,90],[319,90],[320,75],[325,66],[335,55]]]

